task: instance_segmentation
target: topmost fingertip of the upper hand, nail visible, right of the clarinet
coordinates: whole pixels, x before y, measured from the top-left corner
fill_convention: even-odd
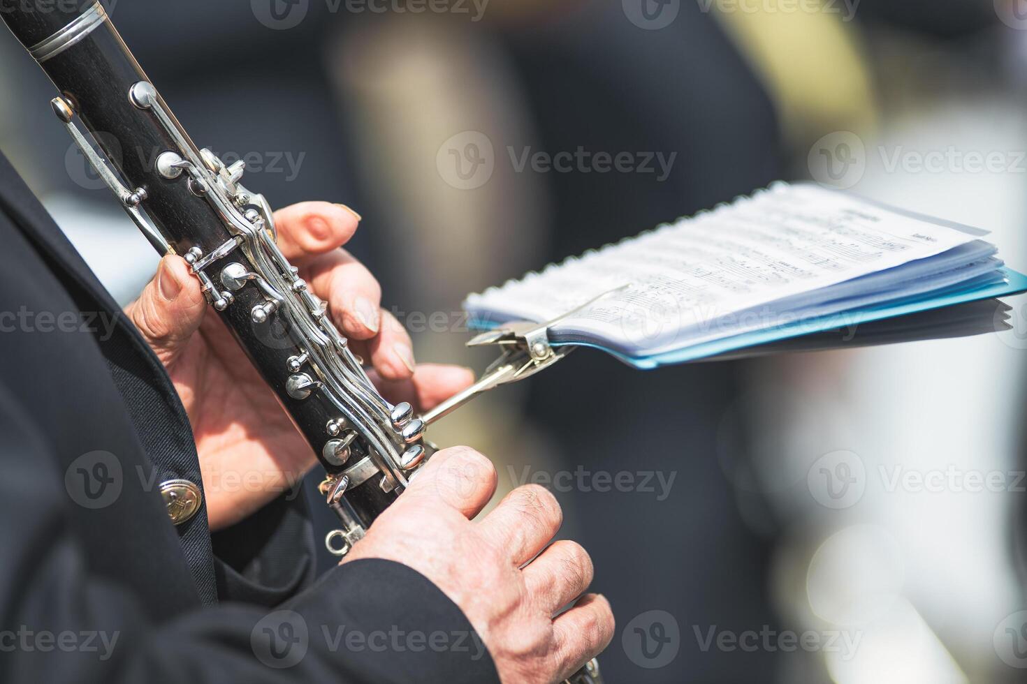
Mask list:
[[[349,242],[359,218],[331,202],[300,202],[274,212],[278,248],[294,265]]]

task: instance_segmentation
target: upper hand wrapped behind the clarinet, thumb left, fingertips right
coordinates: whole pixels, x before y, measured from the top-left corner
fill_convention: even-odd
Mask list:
[[[428,409],[472,381],[469,370],[415,367],[410,336],[381,309],[374,276],[340,249],[359,218],[328,202],[275,213],[278,244],[312,291],[329,303],[350,349],[369,360],[373,379],[391,401]],[[199,281],[179,256],[126,312],[170,374],[192,423],[212,529],[250,516],[299,481],[314,464],[311,449],[208,307]]]

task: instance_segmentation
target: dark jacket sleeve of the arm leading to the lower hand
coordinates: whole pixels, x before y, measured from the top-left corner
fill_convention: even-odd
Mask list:
[[[236,601],[159,614],[90,572],[43,434],[0,386],[0,681],[497,681],[457,606],[388,561],[334,568],[270,612]]]

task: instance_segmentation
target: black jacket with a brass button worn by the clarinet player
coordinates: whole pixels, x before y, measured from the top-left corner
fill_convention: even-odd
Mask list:
[[[404,565],[313,581],[304,502],[212,535],[167,375],[0,156],[0,681],[488,682],[466,617]]]

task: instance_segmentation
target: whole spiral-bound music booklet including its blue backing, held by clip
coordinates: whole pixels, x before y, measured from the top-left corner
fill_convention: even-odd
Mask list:
[[[554,321],[554,344],[597,347],[643,368],[975,334],[1007,327],[1006,309],[991,301],[883,321],[1027,289],[984,235],[777,184],[472,294],[464,308],[478,327]]]

